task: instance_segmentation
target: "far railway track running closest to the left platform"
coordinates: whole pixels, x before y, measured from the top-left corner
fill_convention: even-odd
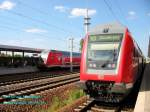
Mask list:
[[[72,72],[72,73],[78,73],[78,72]],[[49,72],[28,73],[28,74],[25,73],[25,74],[20,74],[19,77],[22,77],[20,80],[16,79],[16,80],[10,80],[10,81],[6,81],[6,82],[1,81],[4,79],[4,77],[11,79],[12,77],[14,78],[14,77],[18,76],[18,74],[17,74],[17,76],[15,76],[15,75],[13,76],[13,74],[12,74],[11,77],[8,77],[6,75],[6,76],[3,76],[3,79],[1,79],[1,77],[0,77],[0,81],[1,81],[0,87],[5,86],[5,85],[10,85],[10,84],[21,83],[21,82],[28,82],[28,81],[34,81],[34,80],[40,80],[40,79],[46,79],[46,78],[59,77],[59,76],[64,76],[64,75],[68,75],[68,74],[71,74],[71,72],[69,72],[69,71],[57,71],[57,72],[49,71]],[[28,77],[28,75],[30,75],[30,76]]]

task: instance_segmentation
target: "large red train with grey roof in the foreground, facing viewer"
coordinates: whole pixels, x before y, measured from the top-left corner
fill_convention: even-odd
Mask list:
[[[143,59],[128,28],[119,23],[97,26],[84,39],[81,85],[95,100],[120,102],[139,80]]]

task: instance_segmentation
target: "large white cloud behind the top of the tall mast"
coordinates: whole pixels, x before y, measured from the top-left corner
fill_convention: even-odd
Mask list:
[[[73,8],[70,12],[70,17],[79,17],[79,16],[85,16],[86,15],[86,9],[85,8]],[[94,9],[88,9],[88,15],[92,16],[96,14],[96,10]]]

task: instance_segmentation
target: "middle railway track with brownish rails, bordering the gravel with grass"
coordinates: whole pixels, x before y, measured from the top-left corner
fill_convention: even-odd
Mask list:
[[[39,93],[48,89],[56,88],[65,84],[79,81],[79,74],[47,78],[0,87],[0,103],[6,103],[16,99],[17,96],[24,96]]]

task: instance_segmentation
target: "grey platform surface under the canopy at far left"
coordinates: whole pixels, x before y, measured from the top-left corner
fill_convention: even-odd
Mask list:
[[[15,74],[15,73],[27,73],[27,72],[35,72],[35,71],[38,71],[38,69],[36,67],[32,67],[32,66],[17,67],[17,68],[0,67],[0,75]]]

